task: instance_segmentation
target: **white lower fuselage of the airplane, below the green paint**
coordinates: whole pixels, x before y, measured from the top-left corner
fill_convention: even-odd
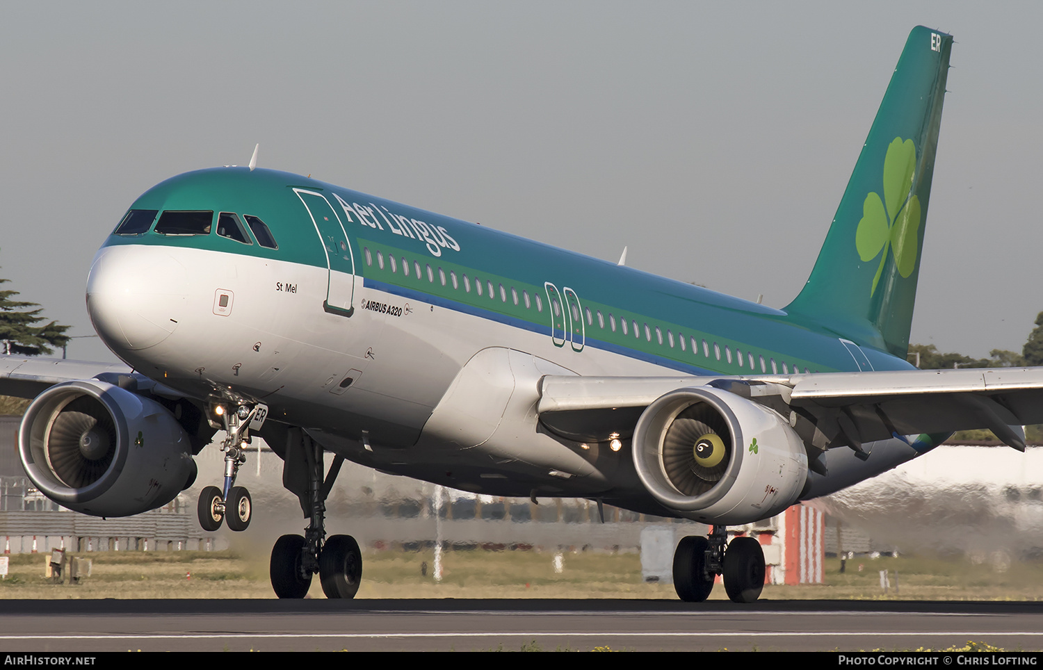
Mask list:
[[[88,305],[99,336],[139,372],[197,398],[263,402],[272,419],[363,465],[500,495],[644,497],[628,449],[538,429],[538,381],[676,370],[556,346],[550,334],[405,299],[358,276],[353,315],[331,314],[329,272],[196,248],[106,246]],[[860,480],[916,455],[894,442],[877,447],[872,465],[838,453],[832,478]]]

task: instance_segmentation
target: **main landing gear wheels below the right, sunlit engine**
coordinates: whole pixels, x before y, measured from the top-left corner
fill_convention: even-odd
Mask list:
[[[765,552],[753,538],[728,544],[724,526],[713,526],[708,538],[688,536],[674,551],[674,589],[685,602],[702,602],[717,575],[733,602],[754,602],[765,586]]]

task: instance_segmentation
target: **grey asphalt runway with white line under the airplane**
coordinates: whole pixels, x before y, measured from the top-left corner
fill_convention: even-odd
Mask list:
[[[1043,602],[5,600],[2,651],[1043,649]]]

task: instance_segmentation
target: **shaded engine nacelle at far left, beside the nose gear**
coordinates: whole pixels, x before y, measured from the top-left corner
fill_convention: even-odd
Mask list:
[[[40,394],[22,419],[19,452],[41,493],[95,517],[165,505],[196,473],[189,436],[166,407],[96,379]]]

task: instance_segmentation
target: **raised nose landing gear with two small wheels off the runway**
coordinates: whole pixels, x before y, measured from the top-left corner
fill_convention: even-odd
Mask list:
[[[253,501],[246,487],[237,487],[236,475],[239,467],[246,463],[246,445],[251,442],[250,429],[259,429],[268,414],[263,404],[239,405],[228,412],[223,405],[214,407],[214,414],[221,418],[227,435],[221,443],[224,452],[224,487],[205,487],[199,493],[196,513],[203,530],[217,530],[221,522],[228,521],[232,530],[246,530],[250,525]]]

